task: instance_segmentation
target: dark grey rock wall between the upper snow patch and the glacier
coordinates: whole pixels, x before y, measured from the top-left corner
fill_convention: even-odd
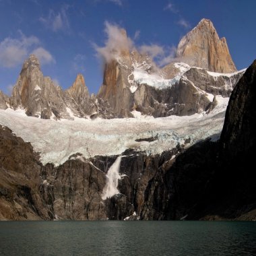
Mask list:
[[[134,93],[132,109],[154,117],[193,115],[212,110],[214,100],[212,101],[207,93],[213,96],[230,96],[242,75],[243,72],[230,77],[224,75],[214,77],[205,69],[192,67],[173,86],[159,90],[141,84]]]

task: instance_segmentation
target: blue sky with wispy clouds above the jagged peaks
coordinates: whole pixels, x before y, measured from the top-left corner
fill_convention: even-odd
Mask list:
[[[202,18],[226,37],[237,69],[243,69],[255,59],[255,9],[254,0],[0,0],[0,90],[9,94],[34,52],[44,75],[62,88],[82,73],[96,93],[102,83],[96,50],[111,36],[106,32],[125,28],[137,48],[154,46],[152,54],[159,53],[164,65]]]

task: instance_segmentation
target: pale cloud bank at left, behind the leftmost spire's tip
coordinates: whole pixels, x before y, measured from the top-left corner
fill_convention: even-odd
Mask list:
[[[53,62],[49,51],[40,47],[40,40],[36,36],[25,36],[18,31],[18,38],[7,37],[0,42],[0,65],[2,67],[15,67],[20,65],[30,53],[38,53],[42,64]]]

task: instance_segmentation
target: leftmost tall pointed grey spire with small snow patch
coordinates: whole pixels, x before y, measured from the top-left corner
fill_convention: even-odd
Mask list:
[[[35,55],[24,62],[22,71],[10,98],[12,108],[24,108],[26,114],[43,119],[70,118],[67,113],[63,92],[50,77],[44,77]]]

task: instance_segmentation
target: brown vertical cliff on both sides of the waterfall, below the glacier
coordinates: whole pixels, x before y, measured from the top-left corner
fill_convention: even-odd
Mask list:
[[[160,207],[154,209],[151,205],[158,205],[159,197],[150,194],[149,184],[159,171],[167,170],[174,162],[170,161],[171,156],[178,152],[179,148],[157,156],[127,152],[121,158],[120,193],[106,200],[102,199],[105,174],[116,157],[68,160],[59,167],[48,164],[42,167],[41,176],[54,187],[54,195],[52,191],[46,195],[44,192],[44,201],[49,202],[50,198],[55,218],[62,220],[124,220],[127,216],[136,220],[160,220],[163,218]]]

